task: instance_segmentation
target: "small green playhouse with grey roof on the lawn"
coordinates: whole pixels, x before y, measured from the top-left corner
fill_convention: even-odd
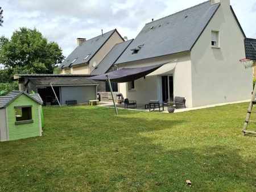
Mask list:
[[[42,136],[42,104],[39,94],[24,91],[0,97],[0,141]]]

